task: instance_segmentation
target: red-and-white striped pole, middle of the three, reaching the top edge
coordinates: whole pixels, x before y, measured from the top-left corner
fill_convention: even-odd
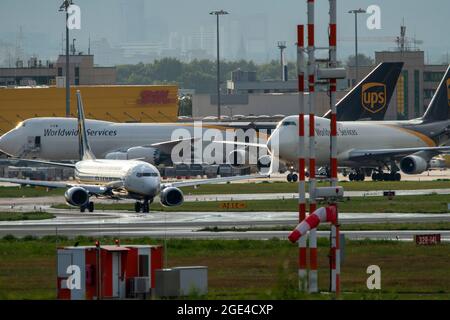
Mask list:
[[[307,0],[308,10],[308,87],[309,87],[309,212],[316,211],[316,152],[315,152],[315,71],[314,56],[314,0]],[[318,292],[317,230],[309,233],[309,292]]]

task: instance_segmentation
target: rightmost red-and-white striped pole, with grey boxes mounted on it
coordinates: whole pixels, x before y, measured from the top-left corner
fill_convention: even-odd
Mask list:
[[[330,68],[337,67],[336,45],[337,45],[337,10],[336,0],[329,0],[330,4],[330,26],[329,26],[329,53]],[[336,187],[337,179],[337,120],[336,120],[336,79],[330,79],[330,104],[331,104],[331,120],[330,120],[330,171],[331,186]],[[340,290],[340,246],[339,246],[339,220],[338,209],[336,207],[336,223],[331,226],[331,282],[330,291],[339,294]]]

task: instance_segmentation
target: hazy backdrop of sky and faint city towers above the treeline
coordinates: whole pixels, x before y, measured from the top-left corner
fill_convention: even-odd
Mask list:
[[[62,0],[2,0],[0,4],[0,64],[14,65],[17,58],[32,55],[55,60],[63,51]],[[286,41],[286,57],[296,57],[296,25],[306,23],[306,0],[218,1],[196,0],[77,0],[82,10],[82,29],[71,32],[77,51],[91,53],[100,65],[148,63],[163,57],[182,61],[215,59],[215,19],[208,13],[225,9],[221,17],[221,56],[257,63],[279,59],[277,41]],[[427,62],[447,60],[450,39],[442,37],[450,2],[434,0],[345,0],[338,3],[338,58],[353,54],[354,20],[347,12],[376,4],[381,8],[381,30],[366,27],[368,15],[359,18],[359,52],[396,47],[393,39],[405,21],[407,36],[422,40]],[[327,45],[328,1],[316,0],[316,38]],[[318,53],[320,55],[320,53]]]

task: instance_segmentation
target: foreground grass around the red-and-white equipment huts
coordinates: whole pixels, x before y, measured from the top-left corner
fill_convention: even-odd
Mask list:
[[[0,240],[0,299],[54,299],[56,247],[93,244],[94,238]],[[100,239],[103,244],[113,238]],[[161,244],[161,240],[121,239]],[[208,266],[207,299],[332,299],[297,291],[298,247],[282,240],[167,241],[167,266]],[[346,241],[341,268],[343,299],[450,299],[450,244],[417,246],[401,241]],[[319,289],[329,285],[328,241],[319,239]],[[381,268],[382,290],[366,288],[366,268]]]

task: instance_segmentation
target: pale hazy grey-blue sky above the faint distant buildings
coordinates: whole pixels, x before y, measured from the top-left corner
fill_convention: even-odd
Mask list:
[[[89,36],[91,39],[107,38],[112,45],[123,40],[121,34],[125,28],[122,17],[124,6],[132,6],[139,0],[77,0],[82,10],[82,30],[72,32],[77,38],[78,49],[87,51]],[[360,15],[359,36],[394,37],[399,34],[402,20],[408,28],[407,35],[423,40],[420,47],[425,50],[430,62],[438,62],[450,50],[450,38],[447,35],[447,20],[450,14],[448,0],[338,0],[338,40],[339,57],[353,53],[354,36],[353,16],[347,11],[355,8],[367,8],[376,4],[381,8],[381,30],[368,30],[366,19]],[[61,35],[64,32],[64,15],[58,12],[61,0],[1,0],[0,1],[0,43],[14,43],[19,27],[22,27],[23,46],[30,54],[47,57],[61,50]],[[267,41],[270,51],[268,58],[277,58],[276,41],[288,43],[288,56],[293,58],[295,49],[295,30],[298,23],[306,22],[306,0],[145,0],[144,12],[146,25],[164,25],[167,32],[195,32],[199,26],[215,27],[215,20],[208,12],[225,9],[229,16],[223,17],[223,27],[232,21],[252,16],[267,18]],[[153,23],[153,24],[152,24]],[[328,23],[328,1],[316,0],[316,37],[318,45],[326,45]],[[151,30],[147,30],[151,32]],[[246,30],[242,30],[245,33]],[[239,41],[239,40],[236,40]],[[123,42],[123,41],[122,41]],[[271,45],[273,44],[273,47]],[[395,47],[389,42],[365,42],[359,44],[360,52],[373,55],[374,50]],[[273,49],[272,49],[273,48]],[[224,48],[226,50],[226,48]],[[252,57],[249,57],[252,58]]]

